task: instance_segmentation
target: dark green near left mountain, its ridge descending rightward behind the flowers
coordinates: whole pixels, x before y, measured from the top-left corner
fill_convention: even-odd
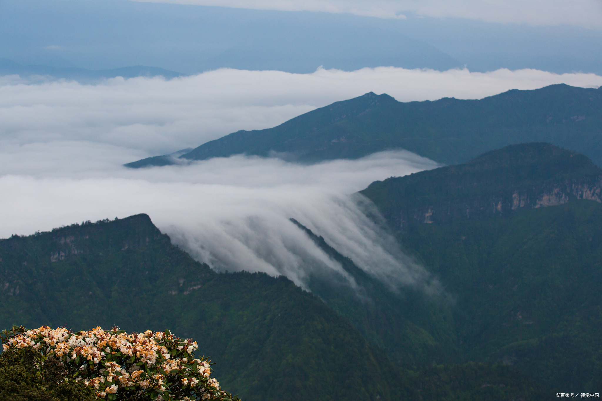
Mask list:
[[[0,283],[4,327],[171,328],[197,340],[217,361],[222,386],[246,400],[545,394],[500,364],[393,364],[317,296],[285,277],[216,274],[172,245],[147,215],[0,240]]]

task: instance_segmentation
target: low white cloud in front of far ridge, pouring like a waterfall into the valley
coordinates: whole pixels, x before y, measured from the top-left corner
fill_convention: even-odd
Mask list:
[[[429,276],[403,259],[393,239],[349,195],[374,179],[433,167],[402,151],[316,165],[232,156],[185,166],[116,167],[92,177],[4,176],[0,236],[144,212],[217,271],[286,275],[302,287],[312,274],[347,277],[289,220],[295,218],[376,277],[396,286],[424,285]]]

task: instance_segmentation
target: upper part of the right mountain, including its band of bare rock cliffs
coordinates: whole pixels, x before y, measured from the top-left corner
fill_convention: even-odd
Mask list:
[[[394,230],[507,215],[570,200],[602,201],[602,170],[544,143],[512,145],[471,162],[372,183],[361,191]]]

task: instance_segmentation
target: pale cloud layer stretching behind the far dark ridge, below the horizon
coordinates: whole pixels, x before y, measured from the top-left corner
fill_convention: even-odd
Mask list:
[[[0,174],[99,170],[196,147],[239,129],[264,129],[369,91],[402,102],[479,99],[509,89],[602,76],[539,70],[406,70],[377,67],[311,74],[220,69],[195,76],[108,79],[98,85],[0,77]],[[57,173],[60,174],[60,173]]]

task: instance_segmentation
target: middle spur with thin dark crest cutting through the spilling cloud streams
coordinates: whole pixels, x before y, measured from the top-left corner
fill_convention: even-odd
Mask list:
[[[454,352],[458,342],[455,323],[446,300],[427,296],[420,289],[393,290],[338,253],[323,237],[292,220],[316,245],[341,263],[358,285],[352,289],[342,277],[339,280],[312,277],[309,282],[312,292],[346,317],[370,343],[386,350],[398,364],[458,360],[459,354]]]

